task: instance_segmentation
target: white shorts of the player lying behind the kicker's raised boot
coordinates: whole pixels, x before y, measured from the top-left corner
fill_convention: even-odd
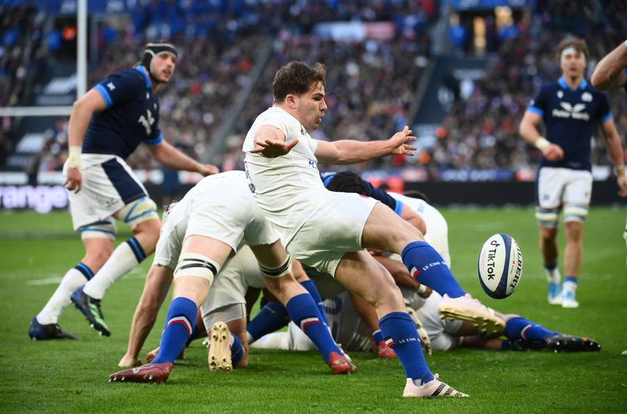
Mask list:
[[[449,351],[459,344],[459,338],[455,335],[462,325],[462,321],[449,321],[440,319],[438,305],[442,301],[440,293],[433,291],[424,305],[416,310],[418,319],[422,322],[424,329],[431,339],[431,347],[434,351]]]

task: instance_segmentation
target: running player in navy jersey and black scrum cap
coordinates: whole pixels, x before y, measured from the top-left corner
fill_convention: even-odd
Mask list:
[[[124,161],[137,146],[146,144],[155,160],[173,169],[203,176],[217,172],[176,150],[158,128],[155,93],[171,79],[177,57],[169,43],[148,43],[141,64],[114,72],[74,103],[64,185],[85,256],[33,318],[31,339],[75,339],[57,323],[70,296],[95,330],[110,335],[100,300],[111,284],[153,253],[161,229],[155,202]],[[127,224],[133,237],[114,249],[115,220]]]

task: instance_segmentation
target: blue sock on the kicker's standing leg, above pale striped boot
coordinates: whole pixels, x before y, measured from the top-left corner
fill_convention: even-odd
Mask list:
[[[428,383],[433,374],[424,360],[416,325],[406,312],[390,312],[379,321],[385,343],[401,361],[405,375],[412,380]]]

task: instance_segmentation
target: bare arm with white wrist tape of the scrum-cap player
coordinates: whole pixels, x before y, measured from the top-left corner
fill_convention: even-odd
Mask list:
[[[81,150],[83,138],[94,112],[104,111],[107,103],[102,95],[91,89],[72,105],[68,128],[68,169],[63,185],[70,191],[79,192],[82,185]]]

